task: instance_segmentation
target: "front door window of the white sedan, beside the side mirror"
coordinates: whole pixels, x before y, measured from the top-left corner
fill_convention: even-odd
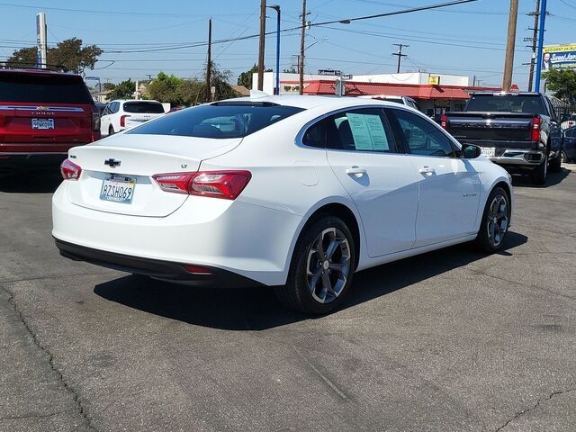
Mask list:
[[[405,147],[413,155],[456,157],[457,151],[450,139],[431,121],[405,110],[389,109],[391,121],[397,121],[397,130]]]

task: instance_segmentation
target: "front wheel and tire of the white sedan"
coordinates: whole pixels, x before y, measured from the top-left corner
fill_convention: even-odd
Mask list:
[[[500,250],[508,232],[510,211],[508,193],[501,187],[494,188],[486,201],[476,237],[476,244],[482,252],[493,254]]]

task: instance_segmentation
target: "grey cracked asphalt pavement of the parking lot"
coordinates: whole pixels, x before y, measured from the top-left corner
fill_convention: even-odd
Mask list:
[[[574,165],[515,179],[500,254],[359,273],[318,319],[60,257],[58,183],[0,178],[1,431],[576,430]]]

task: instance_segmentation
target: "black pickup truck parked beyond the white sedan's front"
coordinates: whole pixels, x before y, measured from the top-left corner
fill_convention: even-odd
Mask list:
[[[529,170],[535,184],[545,184],[548,167],[561,169],[562,130],[545,94],[475,93],[464,112],[447,112],[441,124],[492,162]]]

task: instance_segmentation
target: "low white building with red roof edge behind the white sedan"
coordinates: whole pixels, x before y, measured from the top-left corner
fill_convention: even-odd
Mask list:
[[[338,71],[319,71],[320,74],[305,74],[303,94],[337,94]],[[253,76],[253,86],[258,74]],[[298,74],[281,73],[280,94],[298,94]],[[275,72],[265,72],[264,88],[274,94]],[[470,76],[408,72],[402,74],[348,75],[347,96],[408,96],[414,99],[421,112],[439,114],[444,111],[462,111],[470,94],[478,91],[500,91],[500,87],[479,87]]]

